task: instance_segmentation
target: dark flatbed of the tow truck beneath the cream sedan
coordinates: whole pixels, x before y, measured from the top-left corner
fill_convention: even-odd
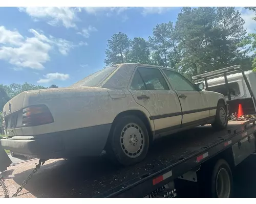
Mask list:
[[[90,161],[47,162],[37,173],[39,181],[33,181],[34,175],[29,183],[42,197],[144,197],[228,148],[237,165],[255,150],[255,131],[255,120],[229,122],[228,130],[219,132],[211,125],[199,126],[156,141],[145,160],[134,166],[114,166],[104,155]],[[241,140],[243,148],[238,150]],[[43,192],[46,185],[49,194],[57,194]]]

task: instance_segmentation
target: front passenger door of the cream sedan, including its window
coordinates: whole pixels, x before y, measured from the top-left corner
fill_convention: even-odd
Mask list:
[[[195,85],[182,74],[174,70],[162,69],[177,92],[182,108],[182,126],[197,123],[209,117],[209,105],[204,91],[196,89]]]

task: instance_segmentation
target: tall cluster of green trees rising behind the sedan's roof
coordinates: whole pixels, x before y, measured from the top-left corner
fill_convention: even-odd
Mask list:
[[[255,8],[248,9],[256,11]],[[175,25],[172,21],[157,24],[148,42],[114,34],[108,41],[104,62],[171,67],[188,77],[235,64],[249,70],[253,63],[248,55],[250,44],[255,41],[247,35],[244,23],[234,7],[184,7]]]

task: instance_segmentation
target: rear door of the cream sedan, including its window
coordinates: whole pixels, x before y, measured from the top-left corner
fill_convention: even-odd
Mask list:
[[[136,103],[151,114],[150,119],[155,124],[156,134],[181,125],[179,98],[159,68],[137,67],[129,91]]]

